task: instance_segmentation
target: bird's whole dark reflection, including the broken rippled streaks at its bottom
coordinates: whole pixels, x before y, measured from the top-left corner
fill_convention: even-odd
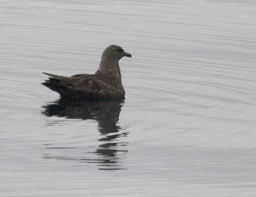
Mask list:
[[[60,152],[60,155],[47,153],[45,158],[77,160],[80,163],[97,163],[99,169],[124,169],[121,161],[127,153],[128,143],[124,141],[123,137],[126,137],[128,132],[123,132],[124,129],[117,125],[123,103],[123,100],[82,102],[62,98],[52,104],[42,106],[45,109],[42,111],[42,114],[49,117],[58,116],[68,119],[96,120],[101,136],[98,139],[100,144],[96,148],[96,151],[86,152],[87,155],[85,156],[62,156],[62,152]],[[52,122],[49,125],[53,125]],[[47,145],[48,152],[54,148],[51,145]],[[75,147],[73,148],[75,149]]]

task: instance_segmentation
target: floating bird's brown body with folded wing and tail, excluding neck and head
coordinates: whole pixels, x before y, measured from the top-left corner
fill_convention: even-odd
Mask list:
[[[45,74],[50,78],[42,85],[58,92],[62,97],[88,100],[124,99],[125,92],[122,84],[118,83],[111,74],[78,74],[71,77]]]

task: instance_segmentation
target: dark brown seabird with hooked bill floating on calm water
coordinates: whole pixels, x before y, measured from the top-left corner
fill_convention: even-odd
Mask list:
[[[77,74],[71,77],[49,76],[42,85],[59,93],[61,98],[71,100],[115,100],[124,99],[125,91],[122,85],[119,60],[122,57],[132,57],[120,46],[110,45],[101,55],[97,71],[90,74]]]

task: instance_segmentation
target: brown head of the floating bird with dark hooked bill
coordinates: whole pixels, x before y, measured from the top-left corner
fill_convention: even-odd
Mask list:
[[[105,48],[105,50],[102,53],[101,58],[108,57],[110,59],[120,60],[124,56],[129,57],[129,58],[132,57],[131,54],[124,52],[120,46],[112,44]]]

